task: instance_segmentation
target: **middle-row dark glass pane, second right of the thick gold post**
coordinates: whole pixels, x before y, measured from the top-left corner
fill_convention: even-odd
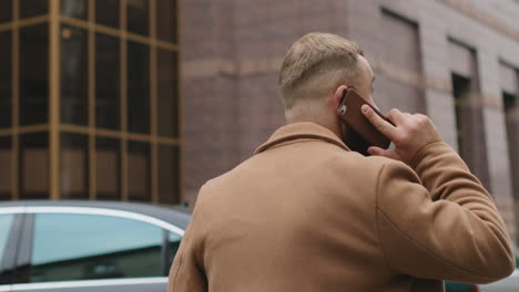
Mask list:
[[[95,34],[95,126],[119,129],[120,54],[119,39]]]

